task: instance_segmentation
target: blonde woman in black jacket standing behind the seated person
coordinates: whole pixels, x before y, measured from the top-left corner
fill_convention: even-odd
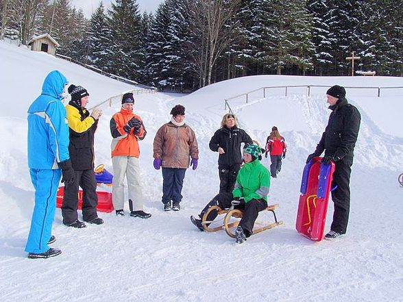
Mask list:
[[[241,143],[253,144],[252,138],[238,128],[236,116],[225,114],[221,121],[221,128],[215,131],[210,140],[210,150],[219,153],[220,193],[234,190],[236,175],[241,168]]]

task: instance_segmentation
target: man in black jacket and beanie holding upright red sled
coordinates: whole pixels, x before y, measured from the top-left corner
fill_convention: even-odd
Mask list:
[[[347,103],[343,87],[332,86],[326,95],[332,113],[315,152],[308,156],[306,162],[325,151],[323,164],[332,161],[336,165],[333,183],[337,188],[332,191],[333,222],[329,233],[325,236],[325,239],[331,240],[345,234],[347,230],[350,212],[350,174],[361,115],[357,108]]]

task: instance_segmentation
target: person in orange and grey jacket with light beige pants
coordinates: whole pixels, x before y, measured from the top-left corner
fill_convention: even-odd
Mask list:
[[[143,210],[143,192],[141,190],[141,176],[138,158],[140,147],[138,140],[143,140],[147,134],[140,116],[133,113],[134,97],[132,92],[122,97],[122,108],[110,120],[112,134],[112,166],[114,177],[112,180],[112,203],[116,214],[124,216],[125,204],[125,176],[129,192],[130,216],[149,218],[151,214]]]

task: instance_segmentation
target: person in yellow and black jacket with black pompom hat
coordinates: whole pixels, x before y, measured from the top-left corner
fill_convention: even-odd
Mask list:
[[[69,153],[75,171],[75,181],[64,185],[62,205],[63,223],[69,227],[82,228],[85,223],[78,219],[78,188],[83,190],[82,216],[84,221],[101,225],[97,215],[97,181],[94,173],[94,134],[102,112],[95,108],[91,114],[86,110],[89,94],[82,86],[69,86],[71,101],[66,105],[69,122]]]

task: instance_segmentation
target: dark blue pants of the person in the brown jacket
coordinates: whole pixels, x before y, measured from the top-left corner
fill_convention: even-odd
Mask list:
[[[162,203],[180,203],[186,168],[162,167]]]

